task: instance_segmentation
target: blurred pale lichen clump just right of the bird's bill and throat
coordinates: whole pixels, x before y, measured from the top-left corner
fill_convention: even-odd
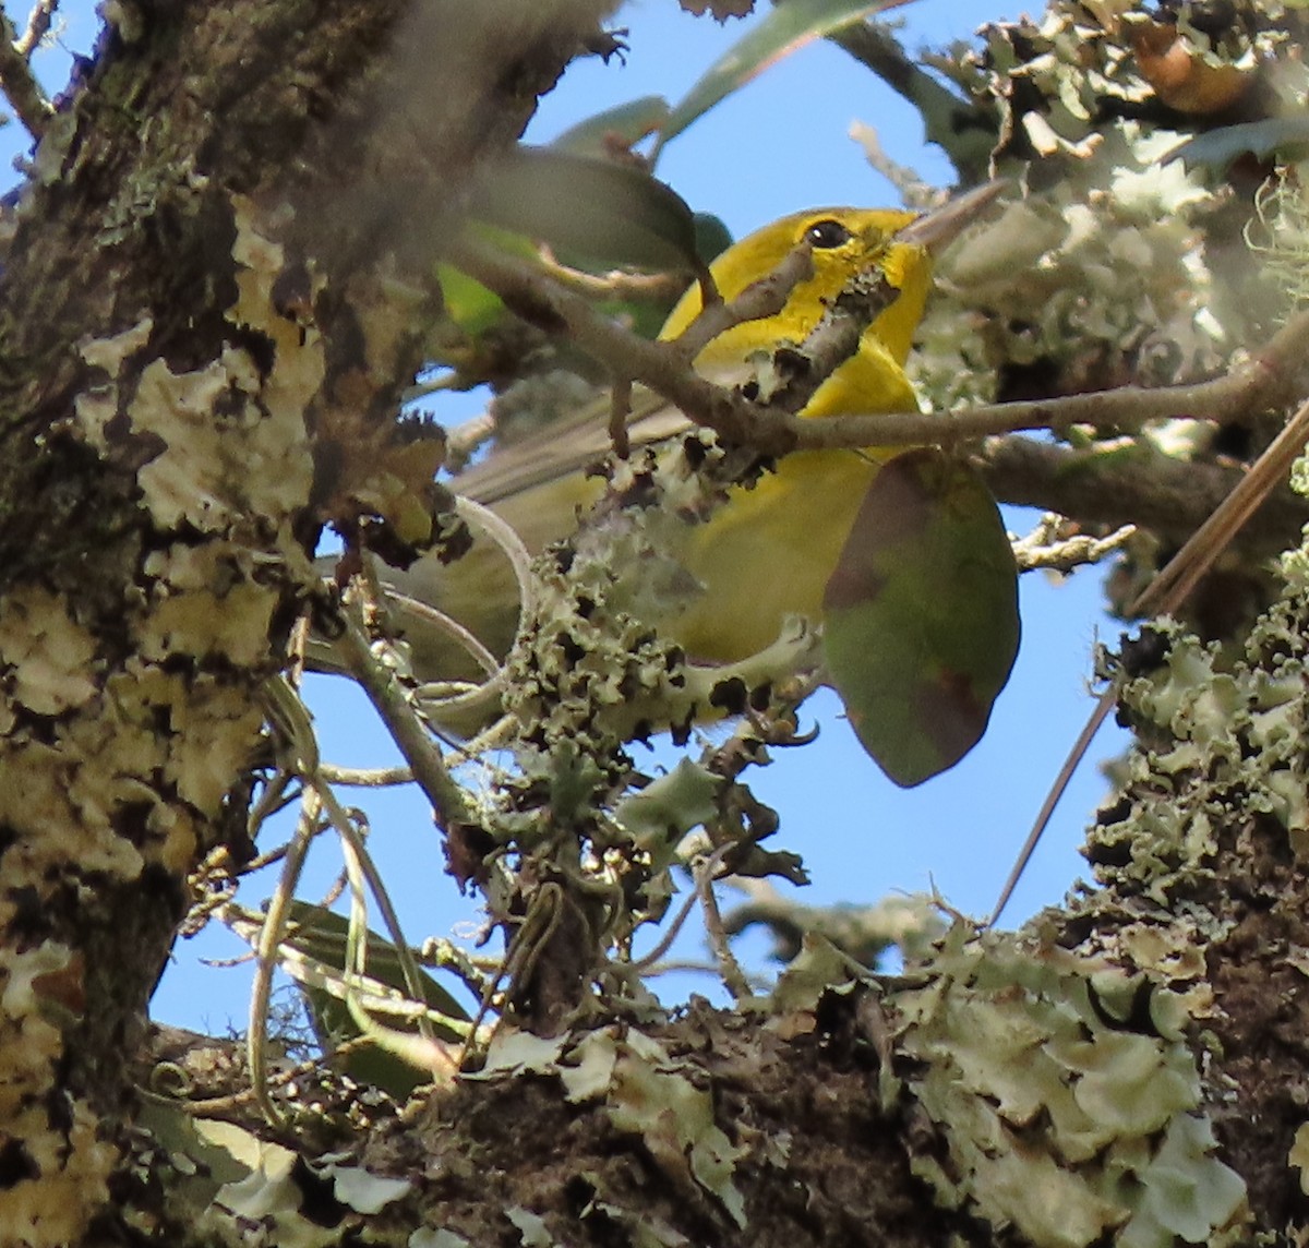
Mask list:
[[[933,407],[990,398],[975,392],[999,364],[1077,371],[1101,352],[1131,352],[1147,380],[1166,382],[1219,367],[1244,340],[1242,323],[1229,331],[1212,314],[1213,276],[1192,224],[1212,196],[1181,165],[1158,165],[1183,136],[1131,120],[1098,134],[1066,178],[1008,204],[942,259],[944,295],[910,361]]]

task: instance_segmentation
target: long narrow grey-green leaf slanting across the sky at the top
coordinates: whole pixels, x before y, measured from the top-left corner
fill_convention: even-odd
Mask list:
[[[698,120],[720,100],[744,86],[783,56],[869,13],[895,8],[906,0],[787,0],[724,52],[673,109],[664,123],[651,161],[669,139]]]

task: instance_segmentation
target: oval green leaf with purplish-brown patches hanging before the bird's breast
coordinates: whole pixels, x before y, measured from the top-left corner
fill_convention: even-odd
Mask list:
[[[873,479],[823,598],[823,652],[864,749],[899,786],[982,737],[1018,651],[1018,571],[995,500],[920,449]]]

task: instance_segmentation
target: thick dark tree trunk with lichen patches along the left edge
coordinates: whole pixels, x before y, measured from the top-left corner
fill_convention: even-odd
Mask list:
[[[605,9],[119,5],[46,127],[0,284],[7,1241],[134,1220],[122,1059],[188,872],[243,853],[313,431],[390,418],[432,291],[389,279]]]

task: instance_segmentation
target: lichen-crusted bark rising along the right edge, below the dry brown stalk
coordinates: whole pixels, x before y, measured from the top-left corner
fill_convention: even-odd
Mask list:
[[[1268,1231],[1309,1207],[1289,1164],[1306,1104],[1309,597],[1304,555],[1284,567],[1284,596],[1237,661],[1174,629],[1164,661],[1126,684],[1140,745],[1088,843],[1106,888],[1066,919],[1069,934],[1090,928],[1079,948],[1189,1003],[1208,1112]]]

